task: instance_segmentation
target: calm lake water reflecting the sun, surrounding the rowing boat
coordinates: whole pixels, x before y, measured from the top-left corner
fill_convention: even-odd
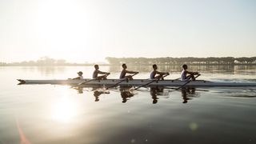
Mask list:
[[[256,82],[256,66],[193,66],[211,81]],[[130,66],[148,78],[150,66]],[[73,78],[92,66],[0,67],[0,143],[256,143],[256,88],[178,91],[17,85],[17,78]],[[118,78],[119,66],[104,66]],[[180,67],[159,66],[178,78]]]

